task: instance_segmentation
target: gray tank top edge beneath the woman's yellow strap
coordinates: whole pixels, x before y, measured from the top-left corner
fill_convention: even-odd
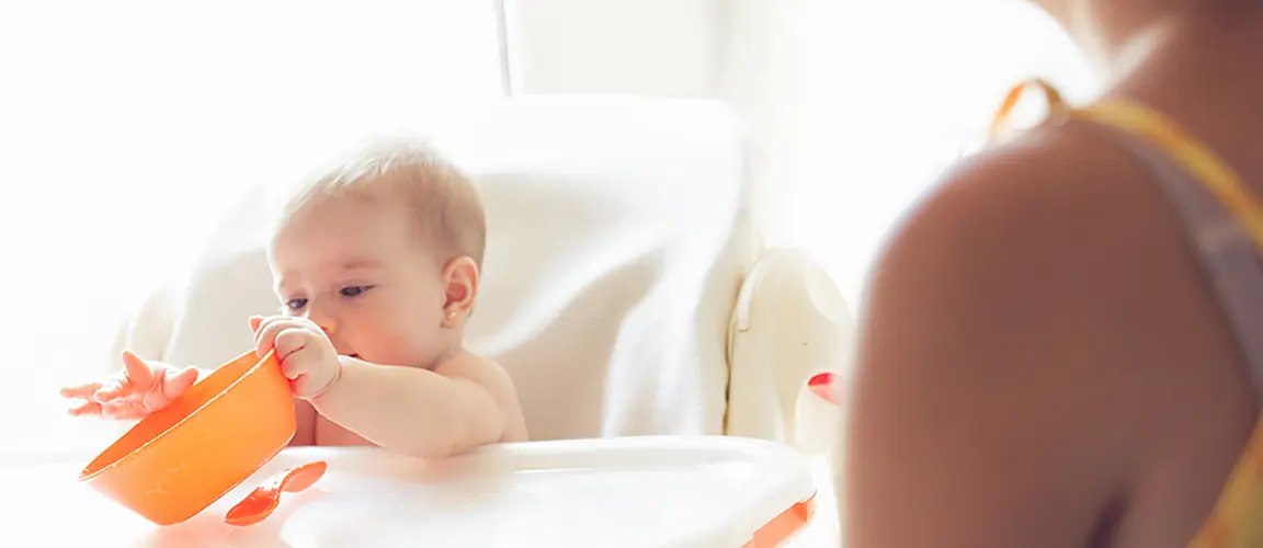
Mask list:
[[[1263,263],[1249,232],[1161,149],[1118,129],[1092,125],[1134,154],[1166,194],[1249,364],[1255,402],[1263,402]]]

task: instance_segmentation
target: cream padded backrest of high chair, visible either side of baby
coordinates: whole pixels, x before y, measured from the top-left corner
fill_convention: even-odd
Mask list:
[[[488,211],[467,347],[513,376],[532,437],[722,433],[726,332],[759,245],[727,110],[542,97],[429,128],[477,177]],[[120,343],[202,366],[250,345],[245,318],[277,309],[270,192],[229,215]]]

